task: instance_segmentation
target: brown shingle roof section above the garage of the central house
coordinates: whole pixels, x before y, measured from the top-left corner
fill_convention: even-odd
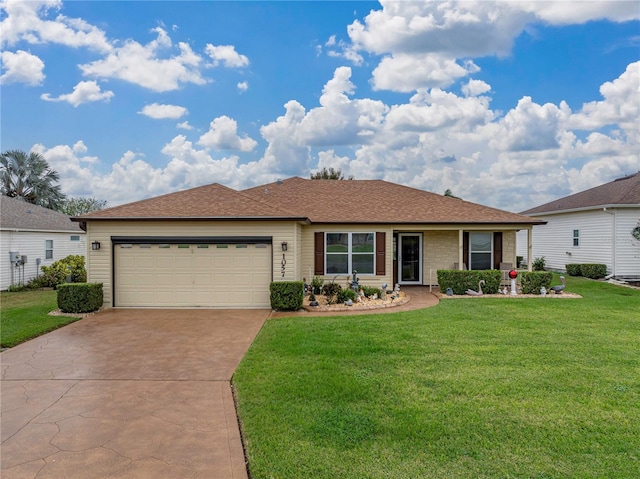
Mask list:
[[[214,183],[114,206],[74,219],[275,219],[294,216],[283,208]]]

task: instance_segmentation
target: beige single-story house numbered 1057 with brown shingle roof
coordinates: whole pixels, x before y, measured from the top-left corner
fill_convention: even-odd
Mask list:
[[[515,264],[540,220],[381,180],[219,184],[74,218],[106,306],[268,307],[272,281],[437,284],[438,269]],[[98,247],[99,249],[95,249]],[[93,246],[95,244],[95,246]]]

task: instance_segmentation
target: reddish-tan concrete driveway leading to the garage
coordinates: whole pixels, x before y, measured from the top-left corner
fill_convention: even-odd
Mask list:
[[[10,478],[246,478],[230,388],[268,310],[108,310],[0,354]]]

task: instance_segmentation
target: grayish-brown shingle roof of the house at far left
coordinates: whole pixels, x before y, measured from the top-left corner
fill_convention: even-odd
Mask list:
[[[0,198],[0,226],[2,229],[84,233],[77,223],[59,211],[4,195]]]

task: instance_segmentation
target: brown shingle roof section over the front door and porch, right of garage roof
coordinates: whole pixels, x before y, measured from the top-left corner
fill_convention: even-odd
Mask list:
[[[537,220],[383,180],[299,177],[244,190],[313,223],[538,223]]]

